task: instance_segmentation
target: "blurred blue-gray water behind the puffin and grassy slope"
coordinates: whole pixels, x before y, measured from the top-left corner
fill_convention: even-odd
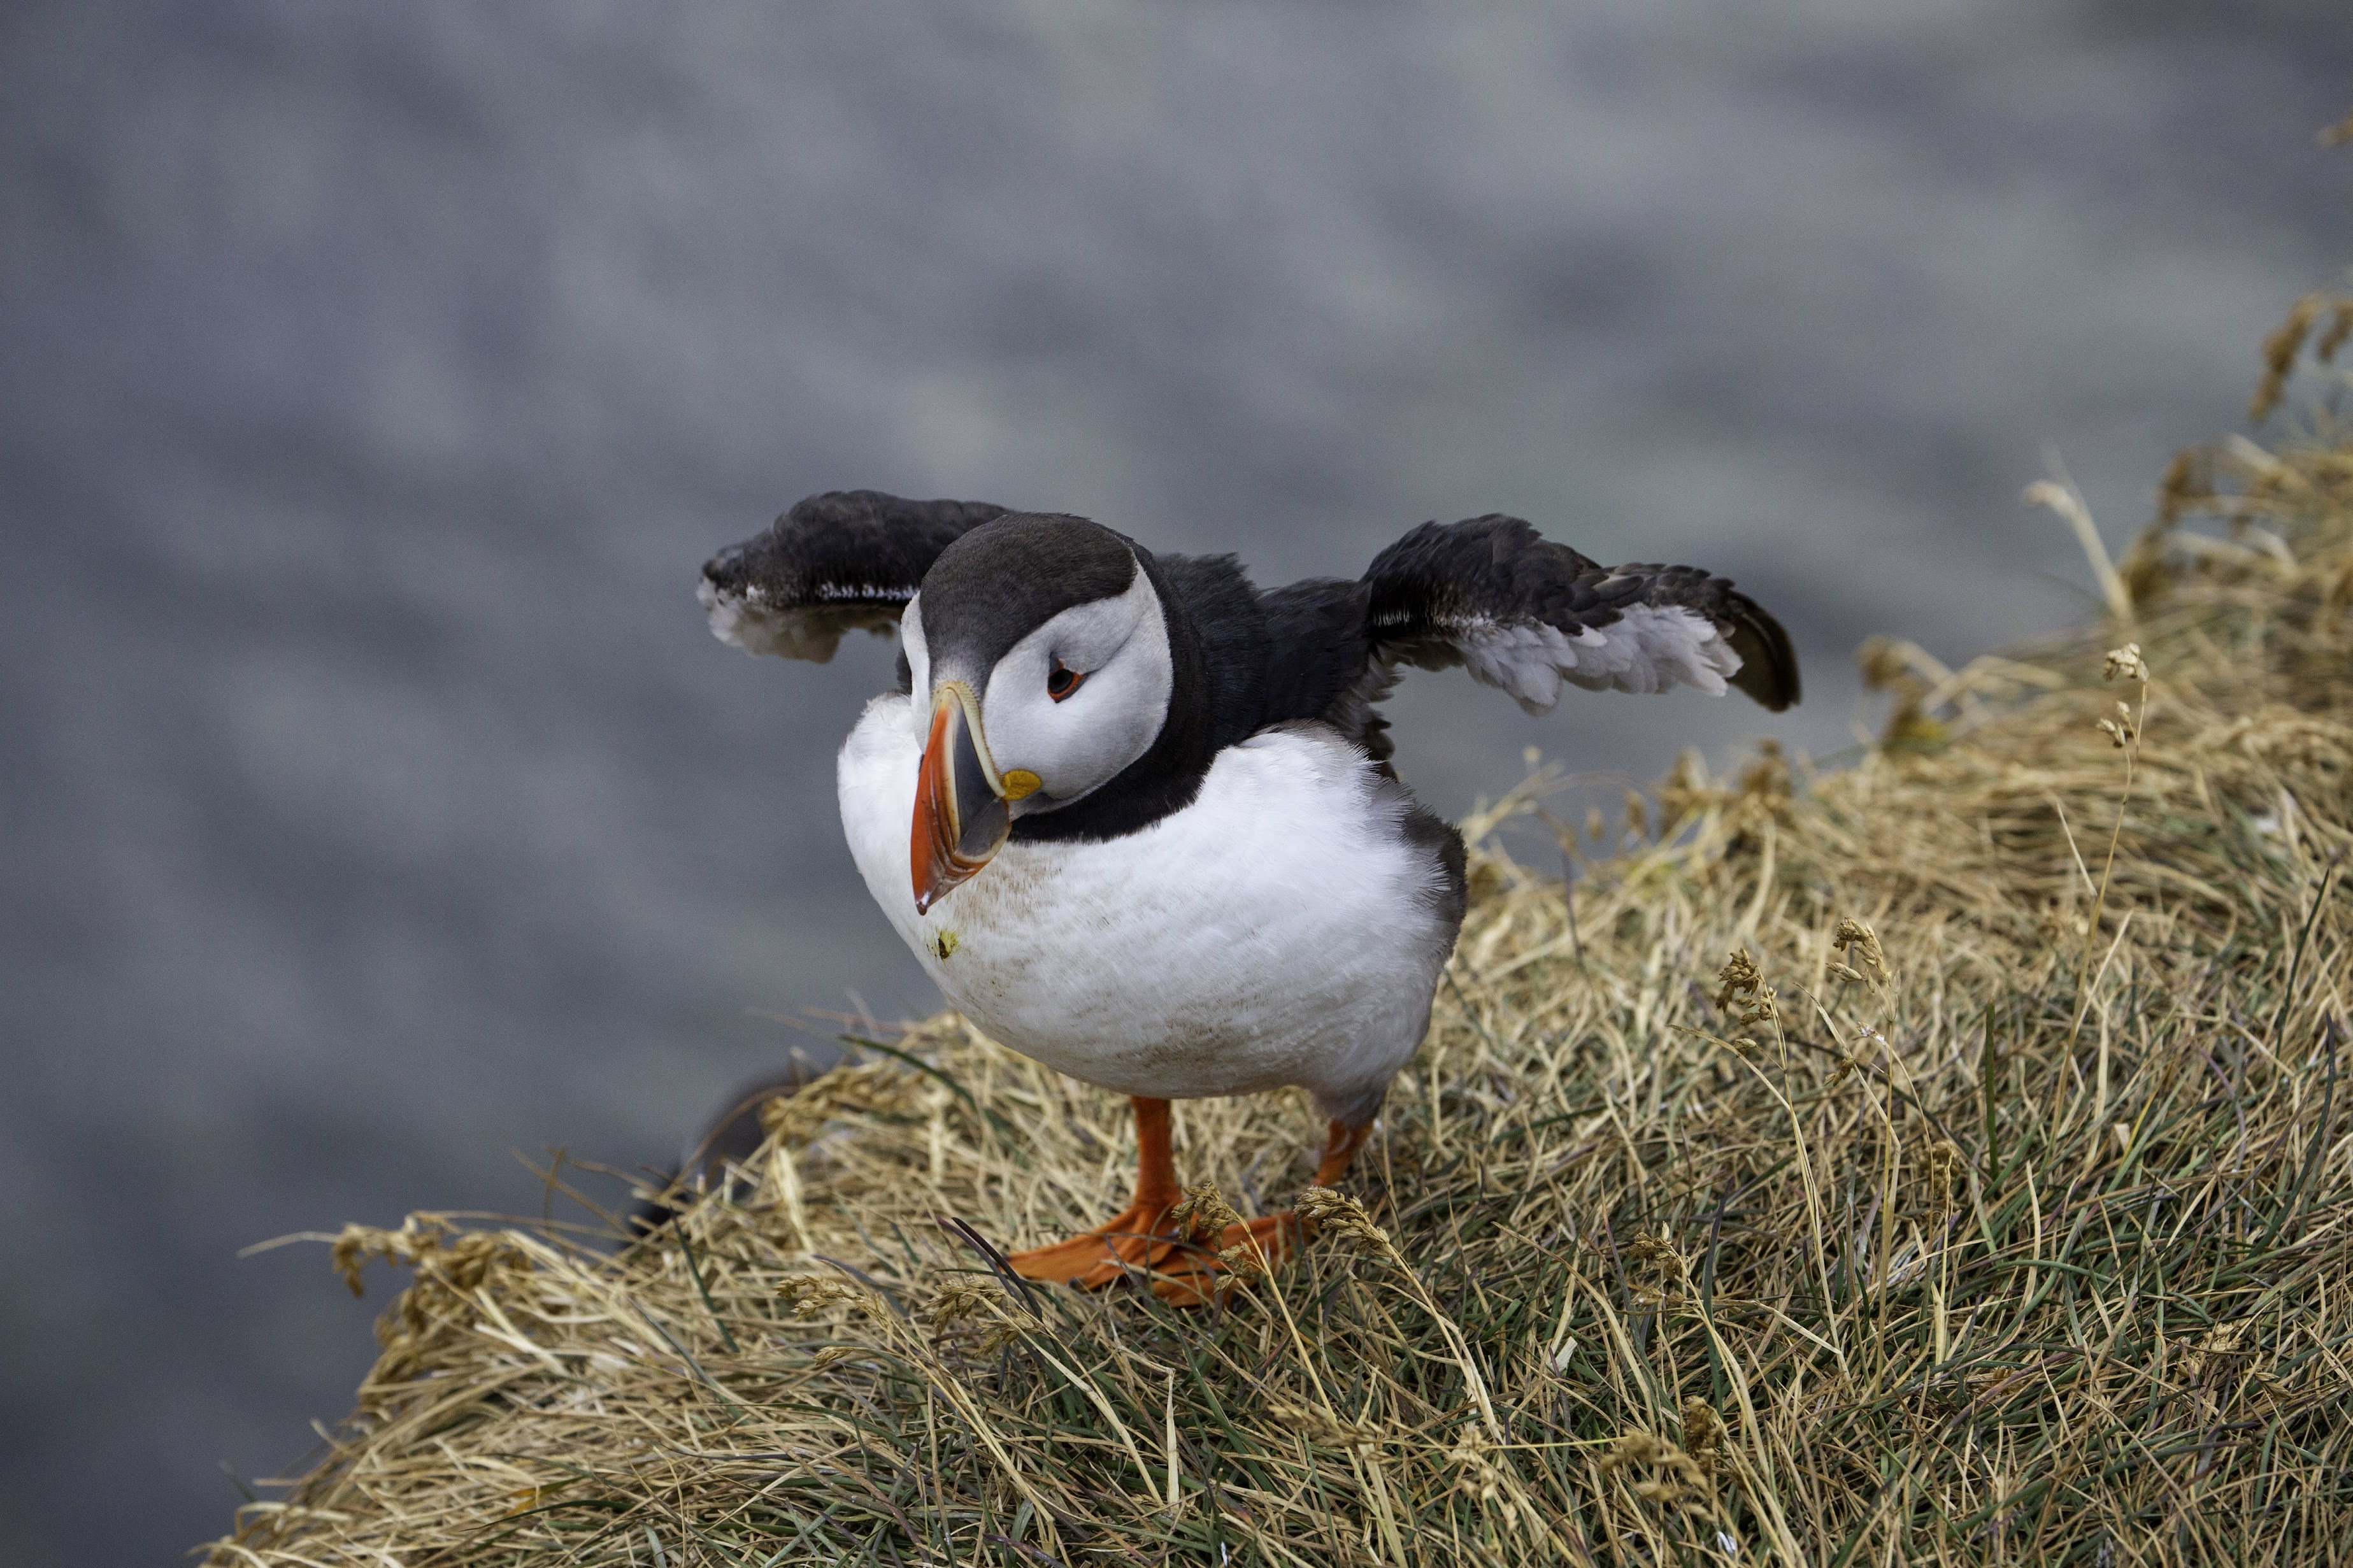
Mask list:
[[[322,1248],[664,1161],[920,1015],[704,556],[845,485],[1261,582],[1518,511],[1807,702],[1461,676],[1445,812],[2073,617],[2353,261],[2341,0],[33,5],[0,16],[0,1556],[172,1561],[372,1356]],[[1617,786],[1609,789],[1614,800]],[[224,1474],[231,1471],[231,1474]]]

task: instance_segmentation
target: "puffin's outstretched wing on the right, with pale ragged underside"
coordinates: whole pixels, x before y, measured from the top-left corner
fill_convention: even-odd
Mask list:
[[[1520,518],[1424,523],[1365,572],[1377,666],[1468,666],[1529,713],[1560,683],[1664,692],[1739,687],[1774,713],[1798,702],[1781,622],[1699,567],[1586,560]]]

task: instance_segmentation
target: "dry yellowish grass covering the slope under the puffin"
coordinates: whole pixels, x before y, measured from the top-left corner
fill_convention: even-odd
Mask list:
[[[348,1231],[414,1269],[384,1358],[209,1561],[2353,1554],[2353,447],[2186,454],[2113,579],[2014,659],[1873,645],[1852,770],[1685,765],[1574,925],[1482,855],[1360,1184],[1231,1309],[993,1274],[1129,1118],[932,1019],[619,1255]],[[1315,1147],[1176,1109],[1242,1210]]]

